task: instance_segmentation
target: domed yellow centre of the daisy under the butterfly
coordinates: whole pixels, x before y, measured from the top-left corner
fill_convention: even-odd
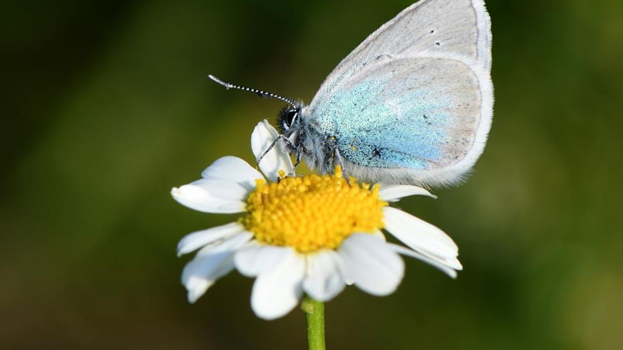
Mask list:
[[[335,249],[353,232],[383,228],[379,186],[350,183],[335,175],[282,177],[279,182],[257,180],[247,199],[242,224],[264,244],[289,246],[298,252]]]

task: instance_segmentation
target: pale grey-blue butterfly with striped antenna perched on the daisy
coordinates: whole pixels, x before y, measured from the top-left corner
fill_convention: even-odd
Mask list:
[[[288,105],[280,144],[320,174],[447,186],[470,173],[493,116],[491,24],[483,0],[421,0],[368,36],[312,102],[240,87]]]

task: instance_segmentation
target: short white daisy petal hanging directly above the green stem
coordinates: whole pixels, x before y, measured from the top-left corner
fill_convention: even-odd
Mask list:
[[[308,254],[303,290],[318,301],[333,299],[345,287],[344,278],[340,273],[342,268],[343,262],[335,250]]]

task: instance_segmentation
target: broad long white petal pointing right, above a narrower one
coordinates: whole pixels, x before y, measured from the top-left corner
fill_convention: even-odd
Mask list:
[[[459,247],[434,225],[392,207],[384,207],[383,216],[385,229],[409,248],[441,258],[459,255]]]

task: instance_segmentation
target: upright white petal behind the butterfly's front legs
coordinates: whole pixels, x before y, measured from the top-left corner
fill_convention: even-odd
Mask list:
[[[255,159],[259,159],[269,148],[270,144],[277,140],[278,136],[279,133],[277,133],[277,130],[275,130],[268,121],[264,120],[257,123],[257,126],[255,126],[251,134],[251,149],[253,150],[253,154],[255,154]],[[290,173],[293,168],[292,160],[290,156],[283,151],[280,142],[275,144],[270,152],[262,158],[259,167],[270,181],[277,181],[277,177],[279,176],[278,172],[280,170],[285,171],[287,174]]]

